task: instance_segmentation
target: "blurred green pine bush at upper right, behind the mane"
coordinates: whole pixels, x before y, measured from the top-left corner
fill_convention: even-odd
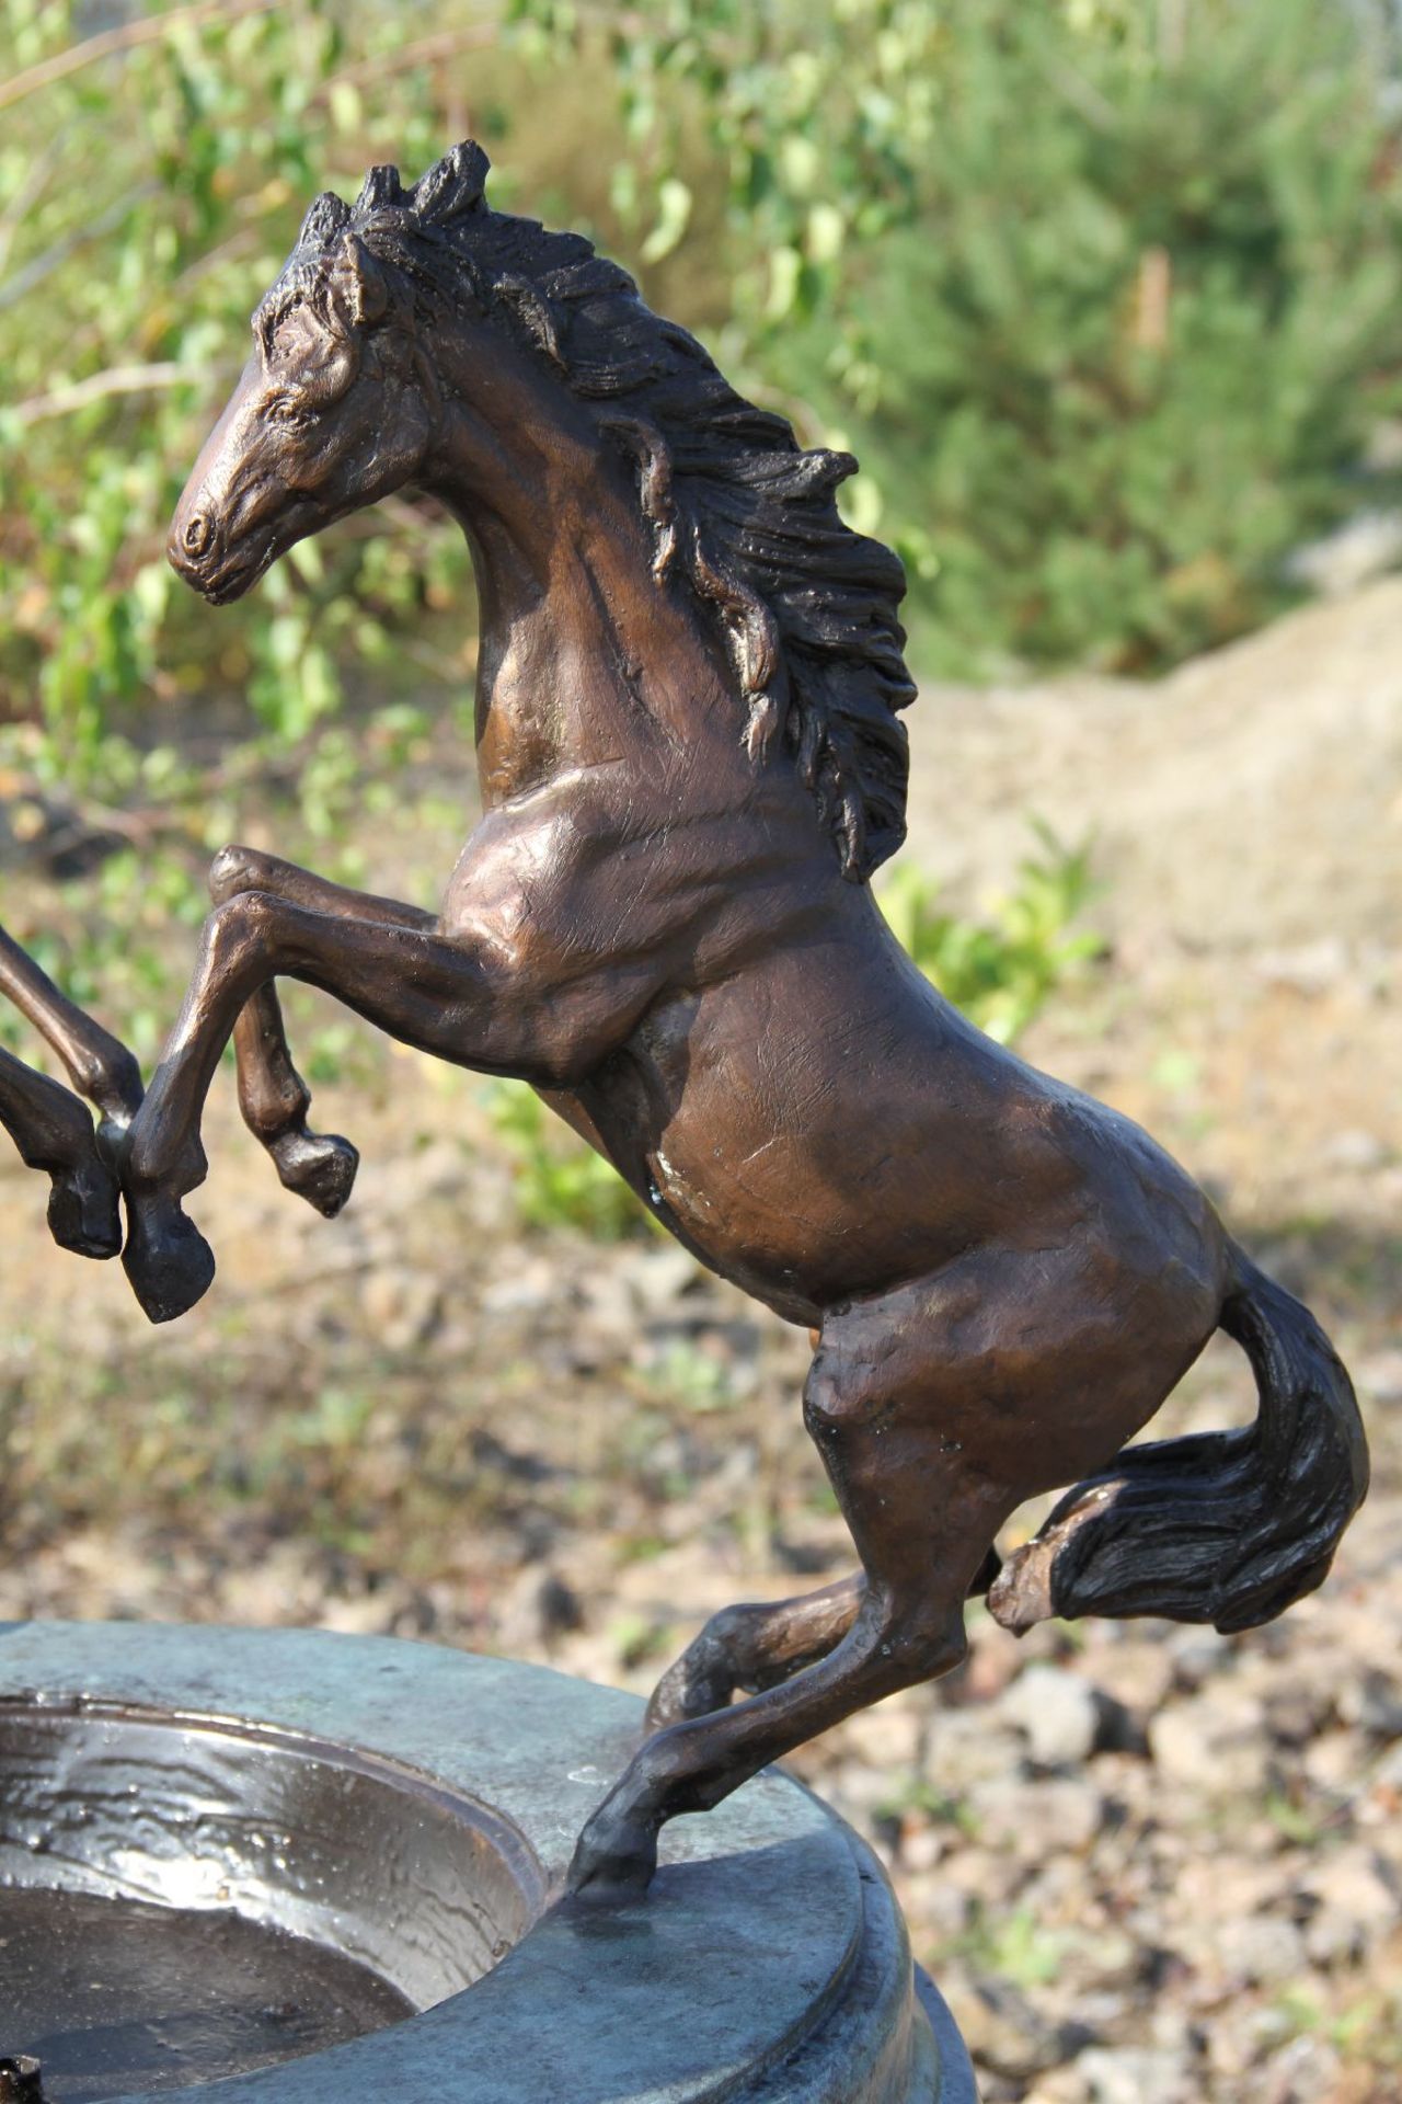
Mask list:
[[[652,177],[620,187],[656,189],[683,82],[750,375],[860,452],[853,522],[906,555],[927,665],[1173,663],[1358,507],[1402,402],[1398,29],[1364,17],[673,0],[616,32]]]

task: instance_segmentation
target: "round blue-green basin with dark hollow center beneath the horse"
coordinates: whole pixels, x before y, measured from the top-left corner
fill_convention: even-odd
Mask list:
[[[975,2104],[870,1849],[780,1774],[555,1904],[635,1698],[301,1631],[0,1624],[0,2062],[46,2104]]]

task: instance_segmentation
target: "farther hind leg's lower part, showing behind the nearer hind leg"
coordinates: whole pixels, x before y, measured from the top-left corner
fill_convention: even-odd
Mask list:
[[[647,1729],[708,1717],[736,1690],[759,1694],[826,1658],[855,1622],[864,1595],[866,1578],[853,1572],[799,1599],[721,1607],[654,1687]]]

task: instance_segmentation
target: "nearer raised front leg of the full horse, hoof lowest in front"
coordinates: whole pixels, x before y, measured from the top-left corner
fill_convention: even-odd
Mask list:
[[[273,978],[322,987],[420,1052],[542,1086],[570,1086],[654,993],[637,972],[561,985],[559,974],[542,978],[469,934],[338,919],[269,892],[229,898],[204,924],[195,976],[124,1166],[124,1265],[151,1321],[193,1307],[214,1277],[214,1258],[177,1201],[206,1174],[200,1115],[219,1054]]]

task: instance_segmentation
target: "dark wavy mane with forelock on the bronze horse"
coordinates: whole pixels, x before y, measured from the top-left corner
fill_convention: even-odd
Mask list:
[[[679,564],[725,625],[752,757],[784,739],[834,835],[843,873],[866,879],[906,835],[914,699],[891,549],[843,524],[849,452],[803,450],[792,427],[729,387],[702,345],[656,316],[620,265],[580,234],[488,206],[488,158],[452,149],[406,189],[372,168],[353,206],[322,196],[254,326],[271,337],[298,299],[330,311],[332,244],[357,238],[431,313],[471,303],[507,318],[635,461],[656,530],[658,576]]]

